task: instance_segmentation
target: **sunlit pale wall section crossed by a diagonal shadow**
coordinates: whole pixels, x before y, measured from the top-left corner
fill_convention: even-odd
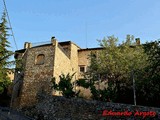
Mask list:
[[[67,47],[68,50],[66,51],[68,54],[65,53],[66,46],[61,47],[57,45],[55,48],[55,62],[54,62],[54,77],[57,81],[59,81],[59,76],[63,74],[75,73],[75,76],[78,76],[78,48],[76,45],[70,43]],[[76,79],[74,77],[73,79]]]

